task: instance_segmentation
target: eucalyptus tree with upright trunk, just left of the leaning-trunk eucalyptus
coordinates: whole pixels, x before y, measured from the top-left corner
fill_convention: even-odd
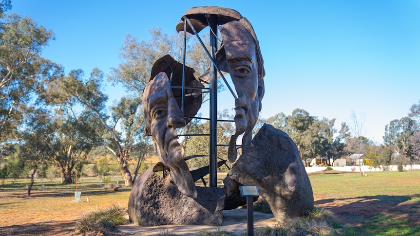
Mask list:
[[[54,122],[55,138],[52,142],[54,161],[63,174],[63,183],[72,183],[72,171],[87,158],[94,142],[102,137],[102,129],[94,122],[97,118],[91,110],[80,107],[80,103],[68,91],[80,85],[73,83],[83,77],[81,70],[71,71],[67,76],[60,76],[54,81],[44,84],[44,93],[38,102],[50,108],[50,116]],[[89,92],[89,91],[88,91]],[[97,101],[100,103],[100,101]]]

